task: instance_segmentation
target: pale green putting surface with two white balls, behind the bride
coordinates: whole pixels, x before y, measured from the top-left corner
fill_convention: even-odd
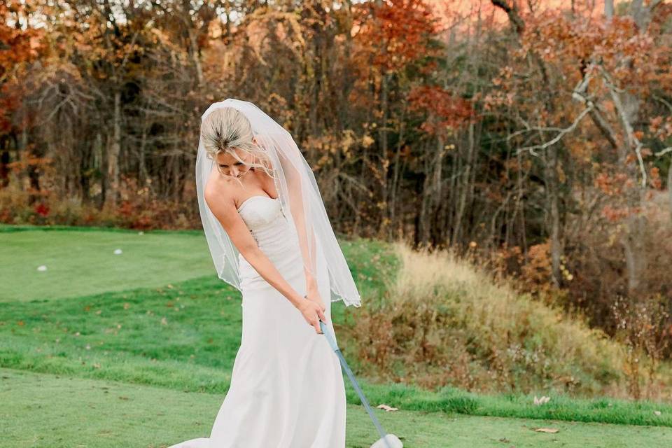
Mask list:
[[[214,272],[207,241],[196,233],[4,231],[0,246],[0,302],[159,286]],[[41,265],[47,270],[38,271]]]

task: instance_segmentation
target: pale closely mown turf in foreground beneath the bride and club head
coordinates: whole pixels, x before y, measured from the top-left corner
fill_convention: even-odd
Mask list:
[[[207,437],[222,394],[0,369],[2,446],[31,448],[167,447]],[[405,448],[668,447],[671,428],[502,419],[375,409]],[[540,433],[537,428],[557,429]],[[377,434],[363,407],[348,405],[346,447],[367,448]]]

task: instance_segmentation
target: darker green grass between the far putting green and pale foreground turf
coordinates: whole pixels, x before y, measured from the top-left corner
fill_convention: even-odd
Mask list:
[[[0,304],[0,366],[225,393],[240,342],[239,294],[212,276],[170,286]],[[332,309],[337,332],[346,331],[339,323],[357,311],[339,304]],[[342,349],[354,361],[347,346]],[[672,405],[655,402],[554,395],[538,407],[528,395],[362,382],[372,402],[404,409],[672,426]],[[359,403],[349,384],[347,393],[349,402]]]

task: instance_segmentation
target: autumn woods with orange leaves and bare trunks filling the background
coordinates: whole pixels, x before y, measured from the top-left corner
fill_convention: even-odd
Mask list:
[[[659,0],[1,3],[0,221],[197,228],[199,118],[245,99],[293,134],[339,232],[477,254],[669,356],[671,15]]]

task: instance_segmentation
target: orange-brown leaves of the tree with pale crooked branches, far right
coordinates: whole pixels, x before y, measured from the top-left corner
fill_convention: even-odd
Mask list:
[[[672,42],[663,26],[672,16],[672,6],[660,5],[647,29],[640,29],[629,15],[608,21],[589,11],[570,15],[559,8],[520,13],[525,22],[520,47],[493,78],[484,109],[523,116],[531,127],[559,129],[579,120],[587,102],[577,99],[589,98],[605,123],[602,129],[610,129],[611,141],[603,138],[595,120],[584,118],[561,136],[559,145],[594,169],[594,186],[610,202],[602,209],[604,218],[616,222],[636,213],[626,197],[641,185],[640,158],[651,163],[652,144],[668,146],[666,139],[672,136],[672,118],[650,113],[649,106],[655,103],[652,94],[672,86]],[[583,82],[586,87],[577,92]],[[645,125],[626,128],[624,106],[615,104],[614,92],[629,92],[638,99],[638,122]],[[519,134],[512,142],[526,144],[526,134]],[[549,133],[541,140],[552,137]],[[589,165],[594,160],[600,162]],[[662,188],[658,168],[646,171],[648,185]]]

